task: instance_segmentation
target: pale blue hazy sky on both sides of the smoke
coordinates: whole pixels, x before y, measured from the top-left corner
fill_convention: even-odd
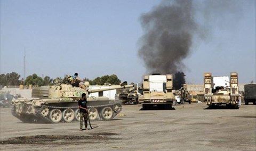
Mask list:
[[[143,34],[139,18],[161,1],[0,2],[1,73],[23,77],[25,47],[26,75],[55,78],[78,72],[94,79],[116,74],[122,81],[140,82],[147,73],[137,53]],[[213,25],[209,36],[194,39],[181,69],[188,82],[202,83],[204,72],[238,72],[240,83],[256,81],[255,1],[237,2],[238,13],[214,13],[207,22]],[[214,18],[220,15],[225,21]]]

